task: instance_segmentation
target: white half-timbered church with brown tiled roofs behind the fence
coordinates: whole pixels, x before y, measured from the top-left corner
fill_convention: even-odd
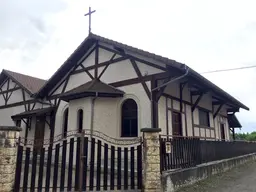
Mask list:
[[[187,65],[93,33],[45,81],[3,70],[0,124],[47,141],[72,130],[116,139],[163,135],[231,140],[243,103]]]

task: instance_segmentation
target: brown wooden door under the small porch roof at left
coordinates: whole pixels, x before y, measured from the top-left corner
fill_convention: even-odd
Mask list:
[[[44,144],[45,117],[36,117],[35,147],[40,149]]]

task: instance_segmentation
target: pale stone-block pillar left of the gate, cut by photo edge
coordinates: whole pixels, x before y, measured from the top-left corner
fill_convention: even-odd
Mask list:
[[[19,127],[0,126],[0,191],[13,191]]]

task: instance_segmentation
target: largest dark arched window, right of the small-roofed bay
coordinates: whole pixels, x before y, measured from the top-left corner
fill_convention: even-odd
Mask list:
[[[122,105],[121,137],[138,137],[138,107],[133,99],[127,99]]]

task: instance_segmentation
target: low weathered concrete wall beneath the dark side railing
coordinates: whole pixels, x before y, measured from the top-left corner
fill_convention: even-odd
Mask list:
[[[180,187],[194,184],[209,176],[225,172],[238,165],[256,160],[256,153],[198,165],[188,169],[162,173],[162,191],[173,192]]]

